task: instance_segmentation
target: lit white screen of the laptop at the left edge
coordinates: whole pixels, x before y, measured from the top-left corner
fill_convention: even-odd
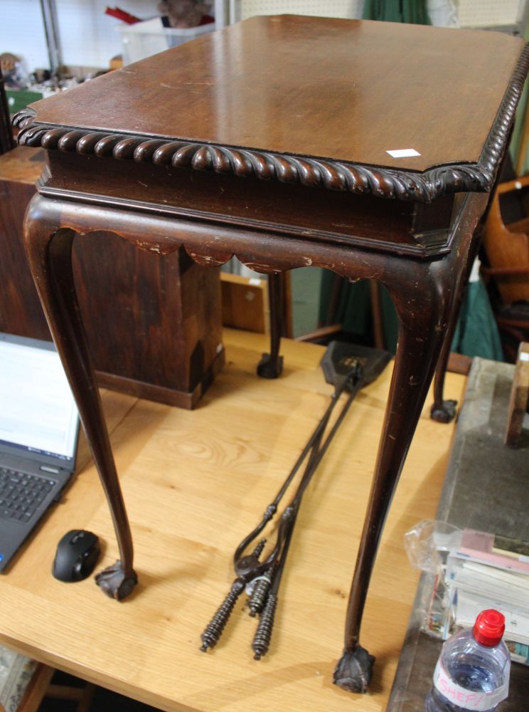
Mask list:
[[[0,447],[72,461],[78,410],[53,344],[0,335],[0,404]]]

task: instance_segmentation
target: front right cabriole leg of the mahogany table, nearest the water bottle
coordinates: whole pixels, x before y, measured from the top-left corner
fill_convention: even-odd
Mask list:
[[[370,575],[386,515],[420,417],[442,346],[451,303],[436,288],[431,273],[415,300],[392,290],[399,316],[399,341],[388,397],[378,461],[365,515],[348,602],[345,650],[334,682],[351,692],[365,692],[374,658],[360,646],[360,624]]]

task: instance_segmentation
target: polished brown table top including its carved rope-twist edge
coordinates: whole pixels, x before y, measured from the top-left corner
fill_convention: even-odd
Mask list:
[[[528,61],[501,33],[257,16],[31,105],[19,140],[430,202],[491,189]]]

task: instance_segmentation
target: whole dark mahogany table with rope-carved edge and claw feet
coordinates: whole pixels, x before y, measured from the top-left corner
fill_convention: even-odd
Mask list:
[[[312,265],[378,280],[399,341],[335,671],[365,691],[375,552],[438,362],[434,411],[452,414],[442,365],[528,64],[523,41],[499,33],[255,17],[18,116],[19,140],[47,152],[26,248],[114,519],[121,558],[98,575],[109,595],[137,576],[73,236],[104,228],[160,255],[184,246],[205,266],[235,254],[272,275]],[[261,371],[279,370],[276,342]]]

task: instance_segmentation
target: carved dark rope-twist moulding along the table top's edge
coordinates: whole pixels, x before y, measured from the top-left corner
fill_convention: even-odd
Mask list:
[[[13,124],[20,129],[20,145],[46,150],[132,159],[138,163],[152,162],[202,171],[213,170],[240,177],[275,179],[284,183],[323,186],[330,190],[429,203],[447,193],[491,190],[528,70],[529,45],[525,45],[479,162],[447,164],[423,173],[39,124],[33,109],[18,112]]]

